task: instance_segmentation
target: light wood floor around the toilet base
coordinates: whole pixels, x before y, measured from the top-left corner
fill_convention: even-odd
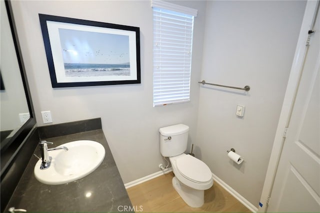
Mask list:
[[[187,206],[172,187],[173,173],[159,176],[150,181],[127,189],[136,212],[232,212],[250,211],[214,182],[204,191],[204,205],[201,208]],[[142,211],[143,210],[143,211]]]

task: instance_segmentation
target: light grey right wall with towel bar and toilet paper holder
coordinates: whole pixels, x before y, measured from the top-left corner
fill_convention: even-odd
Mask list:
[[[305,2],[208,1],[195,155],[258,206]],[[243,118],[235,115],[245,106]],[[244,162],[236,165],[226,150]]]

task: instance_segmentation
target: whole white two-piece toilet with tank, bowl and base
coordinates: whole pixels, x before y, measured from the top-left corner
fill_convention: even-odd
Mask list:
[[[189,127],[176,124],[162,127],[159,132],[161,155],[169,158],[174,173],[173,188],[188,206],[201,207],[204,204],[204,190],[213,185],[213,178],[205,163],[184,154]]]

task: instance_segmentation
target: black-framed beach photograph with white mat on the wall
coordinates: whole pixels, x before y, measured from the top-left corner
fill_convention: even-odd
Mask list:
[[[39,14],[52,87],[137,84],[139,27]]]

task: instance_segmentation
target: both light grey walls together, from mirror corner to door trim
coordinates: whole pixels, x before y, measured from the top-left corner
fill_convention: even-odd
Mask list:
[[[51,111],[54,124],[101,117],[127,183],[158,171],[163,162],[158,128],[184,123],[190,127],[188,147],[196,145],[195,155],[257,206],[305,2],[174,2],[199,10],[191,102],[153,108],[150,1],[12,1],[37,124],[43,125],[40,111],[45,110]],[[52,89],[38,13],[140,27],[142,83]],[[251,90],[199,89],[200,79],[247,84]],[[236,104],[246,107],[242,119],[235,116]],[[230,148],[243,156],[242,165],[227,158]]]

